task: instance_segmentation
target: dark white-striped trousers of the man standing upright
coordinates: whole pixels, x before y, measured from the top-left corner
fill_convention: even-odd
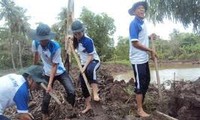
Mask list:
[[[133,64],[135,75],[135,93],[143,95],[143,101],[150,83],[150,70],[148,62],[144,64]]]

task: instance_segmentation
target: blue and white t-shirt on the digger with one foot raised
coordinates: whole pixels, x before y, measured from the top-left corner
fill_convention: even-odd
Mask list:
[[[78,54],[80,55],[81,64],[85,65],[88,55],[93,55],[94,60],[100,61],[99,55],[96,52],[93,40],[88,36],[83,36],[78,44]]]

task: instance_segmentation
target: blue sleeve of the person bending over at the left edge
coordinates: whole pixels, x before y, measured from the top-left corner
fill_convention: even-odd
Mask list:
[[[13,100],[18,113],[28,113],[29,91],[26,82],[18,89]]]

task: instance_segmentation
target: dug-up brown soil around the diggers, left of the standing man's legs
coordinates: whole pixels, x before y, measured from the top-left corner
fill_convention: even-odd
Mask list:
[[[108,69],[109,68],[109,69]],[[112,68],[112,69],[111,69]],[[123,69],[123,70],[121,70]],[[98,71],[99,79],[99,94],[101,101],[98,103],[92,102],[93,110],[86,114],[80,114],[80,111],[84,108],[84,98],[80,89],[80,83],[77,78],[79,75],[78,69],[74,67],[70,74],[74,79],[76,86],[76,104],[73,109],[64,99],[65,91],[59,82],[55,82],[54,92],[58,96],[62,105],[58,105],[54,99],[51,99],[49,106],[49,116],[51,120],[64,120],[66,118],[72,120],[122,120],[127,115],[132,113],[135,102],[133,94],[133,81],[125,83],[124,81],[114,81],[111,71],[116,72],[125,71],[125,67],[117,65],[115,67],[108,67],[102,65]],[[113,72],[113,71],[112,71]],[[33,114],[36,120],[41,120],[41,102],[42,102],[42,90],[33,91],[33,102],[30,105],[30,112]],[[5,112],[6,115],[15,120],[14,114],[16,113],[14,108],[9,108]]]

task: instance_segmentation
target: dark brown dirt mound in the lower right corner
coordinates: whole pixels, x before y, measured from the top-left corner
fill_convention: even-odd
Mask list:
[[[180,120],[200,119],[200,78],[195,82],[176,82],[169,101],[169,114]]]

